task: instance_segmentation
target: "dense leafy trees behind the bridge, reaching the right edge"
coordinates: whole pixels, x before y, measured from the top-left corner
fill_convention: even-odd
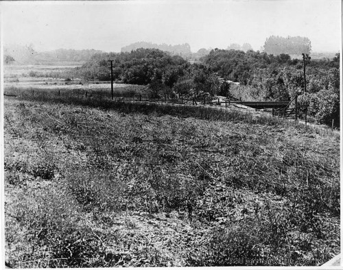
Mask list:
[[[292,60],[287,54],[215,49],[203,60],[220,77],[239,82],[237,91],[244,99],[276,101],[300,95],[299,100],[308,105],[308,114],[318,123],[331,123],[332,119],[339,123],[339,53],[332,60],[306,62],[306,93],[303,60]]]

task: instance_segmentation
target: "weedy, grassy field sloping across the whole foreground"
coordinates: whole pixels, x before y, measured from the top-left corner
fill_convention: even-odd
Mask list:
[[[205,107],[19,96],[5,98],[12,267],[320,265],[340,252],[338,134]]]

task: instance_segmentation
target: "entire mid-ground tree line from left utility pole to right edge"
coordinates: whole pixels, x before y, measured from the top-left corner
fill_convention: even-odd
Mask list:
[[[159,49],[136,49],[121,53],[96,53],[76,71],[84,79],[110,80],[108,60],[114,60],[115,81],[148,85],[150,96],[231,96],[228,81],[239,82],[239,91],[253,100],[290,100],[300,95],[309,115],[318,123],[339,122],[340,56],[332,60],[310,60],[307,64],[307,93],[303,93],[303,60],[288,54],[213,49],[191,64],[180,56]],[[237,88],[237,86],[235,86]],[[237,89],[236,89],[237,94]],[[236,95],[237,97],[237,95]]]

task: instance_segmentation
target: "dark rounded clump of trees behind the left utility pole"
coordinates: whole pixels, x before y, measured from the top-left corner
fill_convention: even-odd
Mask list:
[[[121,53],[98,53],[77,72],[85,79],[110,80],[108,60],[113,62],[113,77],[126,84],[149,84],[152,97],[167,95],[215,95],[218,77],[202,64],[190,64],[180,56],[159,49],[137,49]]]

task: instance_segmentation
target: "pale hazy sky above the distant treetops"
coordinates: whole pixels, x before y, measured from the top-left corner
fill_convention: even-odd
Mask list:
[[[339,51],[341,0],[0,2],[3,40],[51,49],[120,51],[133,42],[189,43],[192,51],[271,35],[306,36],[312,51]]]

